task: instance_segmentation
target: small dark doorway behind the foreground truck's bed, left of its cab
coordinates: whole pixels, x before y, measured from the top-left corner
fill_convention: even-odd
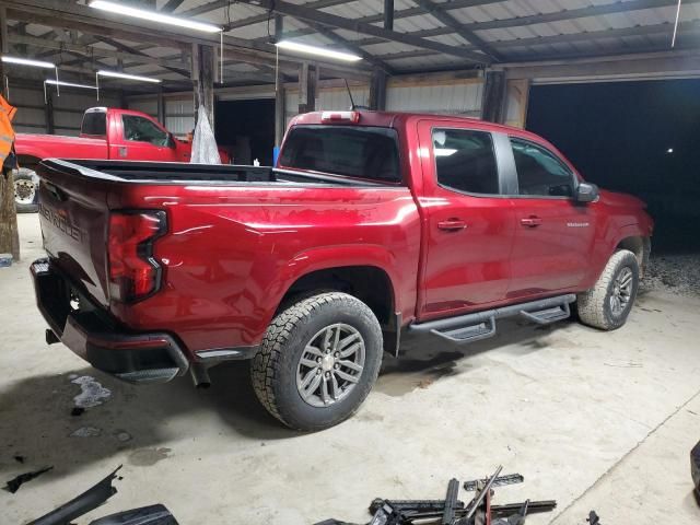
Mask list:
[[[233,152],[235,164],[272,164],[275,98],[217,102],[217,141]]]

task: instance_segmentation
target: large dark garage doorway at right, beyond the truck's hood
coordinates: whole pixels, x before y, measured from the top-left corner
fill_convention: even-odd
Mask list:
[[[700,80],[535,85],[527,129],[654,217],[655,253],[700,253]]]

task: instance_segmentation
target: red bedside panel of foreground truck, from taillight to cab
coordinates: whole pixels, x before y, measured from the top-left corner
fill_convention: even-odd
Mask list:
[[[259,343],[290,285],[324,268],[383,269],[396,310],[413,315],[420,222],[408,188],[130,185],[108,205],[167,211],[154,247],[164,289],[113,310],[132,328],[176,332],[190,351]]]

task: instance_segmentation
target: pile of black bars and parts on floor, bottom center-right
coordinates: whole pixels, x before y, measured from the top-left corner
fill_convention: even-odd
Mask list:
[[[502,467],[489,478],[466,481],[464,489],[474,491],[468,503],[459,501],[459,481],[451,479],[444,500],[385,500],[377,498],[370,504],[372,520],[368,525],[411,525],[428,520],[440,525],[523,525],[528,514],[551,512],[557,508],[555,500],[524,501],[505,505],[494,505],[493,488],[522,483],[520,474],[499,476]],[[316,525],[352,525],[338,520],[325,520]]]

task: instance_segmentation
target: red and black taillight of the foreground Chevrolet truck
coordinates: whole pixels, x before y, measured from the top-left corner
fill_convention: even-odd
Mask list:
[[[129,302],[160,288],[161,267],[153,241],[166,231],[164,211],[113,212],[109,215],[109,296]]]

